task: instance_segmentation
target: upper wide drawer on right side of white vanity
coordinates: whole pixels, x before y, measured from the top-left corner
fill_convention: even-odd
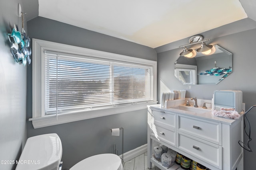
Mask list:
[[[222,124],[191,116],[178,115],[178,131],[222,145]]]

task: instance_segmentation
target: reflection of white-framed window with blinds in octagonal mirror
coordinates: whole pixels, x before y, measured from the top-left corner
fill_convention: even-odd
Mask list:
[[[182,84],[197,84],[197,66],[176,64],[174,74]]]

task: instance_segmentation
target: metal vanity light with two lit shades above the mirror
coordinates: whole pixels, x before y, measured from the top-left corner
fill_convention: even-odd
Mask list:
[[[181,45],[181,47],[183,47],[183,51],[180,53],[180,56],[184,56],[184,57],[188,57],[188,58],[192,58],[192,57],[196,57],[196,51],[199,53],[203,53],[204,55],[211,55],[215,52],[215,48],[212,45],[206,45],[206,41],[209,41],[210,39],[206,39],[204,41],[202,35],[194,35],[193,37],[190,37],[189,42],[190,44],[187,45]],[[193,49],[187,49],[186,46],[188,45],[193,45],[193,44],[198,44],[198,43],[202,43],[201,47],[198,48],[196,51]]]

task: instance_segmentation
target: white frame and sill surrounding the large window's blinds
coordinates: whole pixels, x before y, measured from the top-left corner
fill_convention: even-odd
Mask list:
[[[79,121],[84,119],[91,119],[95,117],[101,117],[106,115],[113,115],[118,113],[124,113],[128,111],[136,111],[140,109],[146,109],[148,105],[156,104],[156,70],[157,62],[140,59],[136,57],[130,57],[125,55],[119,55],[114,53],[108,53],[104,51],[98,51],[93,49],[86,49],[82,47],[76,47],[72,45],[65,45],[61,43],[54,43],[50,41],[44,41],[40,39],[32,39],[33,53],[32,53],[32,121],[34,128],[47,127],[51,125],[58,125],[62,123],[68,123],[72,121]],[[109,59],[117,61],[129,61],[136,64],[148,64],[153,66],[153,102],[145,102],[132,104],[128,106],[118,106],[106,109],[88,110],[77,113],[59,114],[59,115],[45,115],[44,109],[44,72],[42,69],[44,63],[44,51],[58,51],[60,53],[70,53],[74,55],[83,55],[96,57],[99,59]]]

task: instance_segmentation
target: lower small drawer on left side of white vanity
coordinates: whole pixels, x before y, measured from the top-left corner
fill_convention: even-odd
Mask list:
[[[151,131],[152,136],[176,147],[176,130],[161,127],[159,125],[155,125],[154,127],[156,129],[152,129]]]

